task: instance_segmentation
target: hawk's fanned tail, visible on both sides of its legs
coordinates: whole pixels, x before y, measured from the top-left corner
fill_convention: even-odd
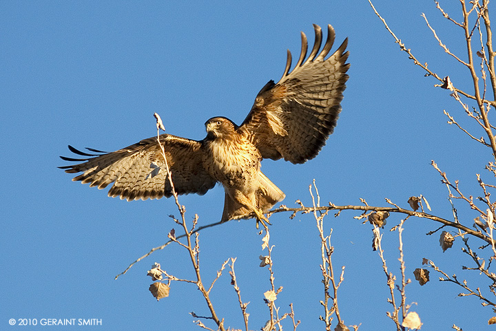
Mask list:
[[[258,189],[255,191],[254,195],[248,198],[257,209],[264,213],[269,211],[274,204],[286,197],[285,193],[261,172],[258,173],[258,185]],[[247,207],[234,200],[226,191],[222,222],[232,220],[233,218],[247,218],[251,212],[251,209],[247,209]]]

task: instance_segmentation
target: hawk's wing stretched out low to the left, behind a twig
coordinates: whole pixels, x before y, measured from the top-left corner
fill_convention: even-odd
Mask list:
[[[165,149],[167,164],[172,172],[172,182],[178,194],[203,195],[215,186],[216,180],[203,168],[201,142],[169,134],[161,135],[160,141]],[[156,137],[141,140],[137,144],[112,153],[89,149],[97,152],[90,154],[71,146],[69,149],[90,158],[75,159],[61,156],[67,161],[85,162],[60,168],[66,169],[67,173],[83,172],[72,180],[80,180],[83,184],[90,183],[90,186],[97,186],[99,189],[114,182],[108,192],[110,197],[120,196],[121,199],[130,201],[172,195],[164,158]]]

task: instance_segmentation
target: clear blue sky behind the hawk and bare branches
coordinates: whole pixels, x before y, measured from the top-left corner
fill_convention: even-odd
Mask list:
[[[457,116],[475,136],[482,136],[448,92],[433,87],[407,55],[399,51],[365,0],[353,1],[2,1],[0,3],[0,131],[3,187],[0,231],[2,284],[0,325],[9,319],[101,319],[99,330],[191,330],[189,312],[207,307],[191,284],[173,284],[170,296],[156,302],[148,292],[147,270],[160,263],[172,275],[193,277],[189,258],[168,246],[114,280],[137,257],[167,241],[177,226],[172,200],[125,202],[106,191],[71,182],[56,167],[65,165],[67,145],[112,151],[156,134],[157,112],[169,134],[200,140],[203,123],[227,116],[238,124],[261,87],[282,75],[289,48],[299,55],[300,31],[313,42],[312,23],[331,23],[336,47],[349,37],[349,81],[334,134],[317,158],[302,165],[266,160],[264,173],[285,191],[284,204],[300,199],[310,205],[308,186],[315,179],[323,203],[386,206],[385,197],[407,207],[411,195],[424,195],[441,217],[451,217],[446,188],[431,160],[462,189],[477,196],[475,173],[484,172],[488,150],[446,124],[443,109]],[[379,2],[379,1],[378,1]],[[448,2],[448,1],[444,1]],[[459,5],[443,3],[459,17]],[[453,6],[453,7],[451,7]],[[378,10],[397,36],[440,76],[470,89],[468,72],[437,47],[420,16],[425,12],[453,52],[465,56],[462,30],[452,28],[431,1],[380,1]],[[223,209],[220,186],[204,196],[180,202],[200,225],[216,222]],[[457,202],[459,217],[470,225],[478,215]],[[371,250],[370,224],[346,211],[327,217],[333,228],[336,270],[346,266],[340,310],[348,325],[360,330],[394,325],[386,317],[389,290],[377,253]],[[397,233],[392,215],[384,231],[390,270],[399,276]],[[323,329],[320,243],[310,215],[271,217],[276,303],[281,312],[293,303],[298,330]],[[422,257],[460,278],[470,262],[458,239],[442,253],[438,236],[425,233],[437,224],[406,222],[407,276]],[[473,241],[474,248],[481,245]],[[208,282],[223,261],[237,257],[236,275],[243,301],[249,301],[249,325],[258,330],[269,319],[263,292],[269,274],[259,268],[261,237],[254,221],[229,222],[200,234],[200,263]],[[225,271],[212,299],[225,324],[242,328],[242,317]],[[485,282],[472,283],[486,290]],[[416,302],[423,329],[447,330],[455,323],[467,330],[487,328],[492,316],[475,298],[457,297],[459,288],[439,283],[407,287],[407,303]],[[213,328],[213,325],[209,325]],[[30,328],[39,328],[30,327]],[[59,327],[78,328],[78,327]],[[285,325],[291,330],[289,324]]]

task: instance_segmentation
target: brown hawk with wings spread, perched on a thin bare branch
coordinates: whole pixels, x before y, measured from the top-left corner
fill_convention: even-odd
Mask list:
[[[338,120],[342,92],[348,79],[347,39],[327,57],[335,32],[328,25],[327,41],[320,50],[322,30],[313,25],[316,40],[307,56],[307,37],[302,32],[300,58],[291,72],[291,52],[287,52],[284,74],[278,83],[269,81],[258,93],[255,103],[241,125],[225,117],[207,120],[207,137],[196,141],[170,134],[160,136],[172,182],[178,194],[205,194],[216,182],[225,189],[222,221],[247,217],[267,218],[282,193],[262,171],[264,158],[284,158],[303,163],[315,158]],[[319,52],[320,50],[320,52]],[[327,57],[327,58],[326,58]],[[66,167],[68,173],[79,173],[72,180],[97,186],[112,184],[108,195],[127,200],[170,197],[172,187],[167,179],[165,160],[158,139],[148,138],[137,144],[105,153],[69,149],[88,158],[61,158],[83,163]]]

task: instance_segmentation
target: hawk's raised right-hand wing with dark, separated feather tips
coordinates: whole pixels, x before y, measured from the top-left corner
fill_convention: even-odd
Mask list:
[[[338,120],[340,102],[348,75],[345,63],[347,39],[329,58],[335,32],[328,25],[327,41],[319,52],[322,30],[313,25],[316,41],[309,57],[307,36],[302,32],[302,50],[291,72],[288,50],[284,74],[278,83],[269,81],[238,131],[249,136],[263,158],[303,163],[317,156]]]

